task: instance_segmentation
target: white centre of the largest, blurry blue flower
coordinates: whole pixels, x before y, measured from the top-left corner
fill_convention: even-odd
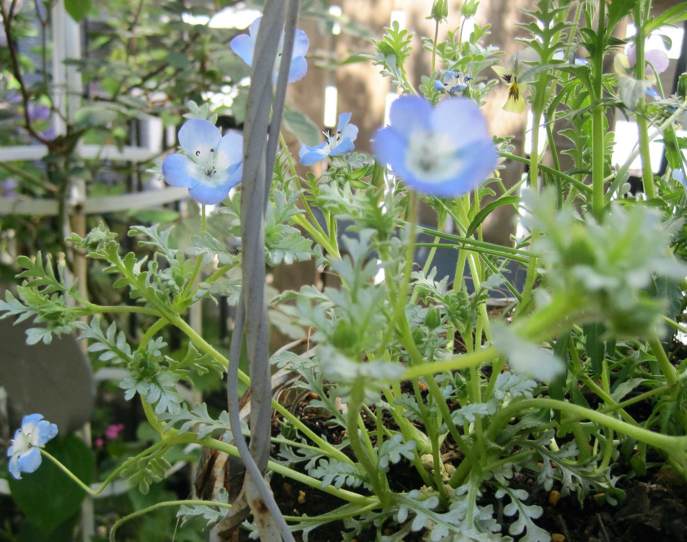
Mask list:
[[[458,149],[447,134],[414,131],[409,136],[405,166],[420,181],[441,183],[460,172],[463,160],[457,155]]]

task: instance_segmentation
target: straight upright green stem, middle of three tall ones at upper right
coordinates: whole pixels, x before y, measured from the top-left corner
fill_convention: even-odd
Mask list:
[[[639,3],[639,2],[638,2]],[[606,1],[598,2],[597,43],[594,58],[593,89],[590,89],[594,100],[603,97],[603,54],[606,19]],[[639,57],[638,57],[639,59]],[[596,104],[592,109],[592,212],[597,221],[601,221],[604,207],[604,156],[606,152],[606,135],[603,129],[604,106]]]

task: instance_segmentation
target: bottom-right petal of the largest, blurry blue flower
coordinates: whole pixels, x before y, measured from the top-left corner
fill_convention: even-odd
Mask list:
[[[464,158],[460,172],[452,179],[447,179],[441,183],[420,181],[412,174],[408,175],[408,172],[404,175],[402,172],[396,171],[396,174],[420,192],[443,197],[462,196],[486,181],[496,167],[498,155],[490,139],[472,142],[462,148],[459,154],[460,157]]]

